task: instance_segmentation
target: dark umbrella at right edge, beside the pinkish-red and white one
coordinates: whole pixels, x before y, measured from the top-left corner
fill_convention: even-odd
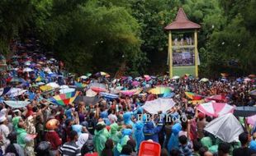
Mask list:
[[[234,115],[237,117],[249,117],[255,114],[256,114],[256,107],[250,107],[250,106],[236,107],[234,111]]]

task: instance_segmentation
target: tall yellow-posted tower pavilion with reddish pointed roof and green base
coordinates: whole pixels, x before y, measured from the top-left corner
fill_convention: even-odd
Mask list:
[[[199,56],[197,31],[201,25],[189,21],[180,7],[175,20],[164,29],[168,30],[169,76],[198,76]]]

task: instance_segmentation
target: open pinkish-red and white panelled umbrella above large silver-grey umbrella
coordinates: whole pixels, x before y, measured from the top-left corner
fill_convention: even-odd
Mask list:
[[[219,117],[229,112],[234,112],[234,107],[227,103],[202,103],[197,106],[197,110],[210,117]]]

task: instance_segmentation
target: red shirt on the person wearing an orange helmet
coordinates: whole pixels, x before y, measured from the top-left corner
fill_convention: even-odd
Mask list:
[[[51,149],[58,149],[59,145],[62,144],[61,139],[56,131],[47,131],[45,134],[45,140],[50,142]]]

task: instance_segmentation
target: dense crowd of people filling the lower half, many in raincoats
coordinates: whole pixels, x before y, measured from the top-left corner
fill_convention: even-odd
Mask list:
[[[28,67],[31,71],[24,70]],[[191,103],[185,94],[187,91],[202,97],[219,94],[230,105],[254,106],[255,97],[249,94],[255,89],[254,78],[246,82],[228,78],[201,81],[193,76],[178,79],[168,76],[123,76],[113,79],[103,72],[79,77],[64,72],[64,64],[53,57],[32,52],[12,57],[7,69],[5,77],[2,76],[0,92],[0,155],[138,155],[140,144],[145,140],[161,145],[160,154],[163,156],[256,154],[254,128],[249,129],[247,123],[242,121],[244,133],[239,135],[239,141],[222,141],[204,131],[206,124],[214,117],[199,112],[199,103]],[[49,83],[59,86],[50,89],[40,87]],[[101,84],[103,89],[92,90],[90,86],[95,83]],[[72,86],[79,96],[89,97],[90,94],[90,98],[97,100],[55,104],[51,97],[67,94],[60,91],[63,85]],[[149,92],[157,86],[172,90],[170,98],[175,106],[167,112],[158,112],[159,116],[153,116],[142,106],[147,101],[164,96]],[[8,94],[5,93],[7,88],[26,91]],[[136,92],[123,94],[126,90]],[[103,96],[101,91],[116,96]],[[11,100],[28,103],[25,107],[18,107],[7,104]],[[163,113],[164,116],[160,116]],[[168,116],[178,120],[165,120]],[[187,120],[182,120],[183,116]]]

